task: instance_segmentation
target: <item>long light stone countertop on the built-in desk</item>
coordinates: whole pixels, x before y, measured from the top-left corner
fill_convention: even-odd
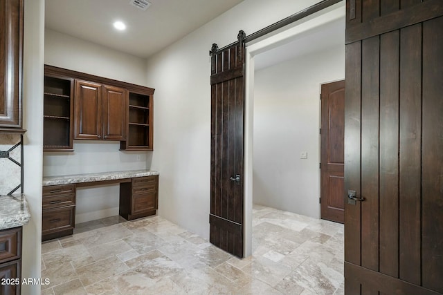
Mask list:
[[[62,176],[46,176],[43,178],[43,186],[46,187],[48,185],[98,182],[98,181],[118,180],[125,178],[138,178],[138,177],[151,176],[151,175],[159,175],[159,172],[152,170],[131,170],[131,171],[85,173],[85,174],[62,175]]]

